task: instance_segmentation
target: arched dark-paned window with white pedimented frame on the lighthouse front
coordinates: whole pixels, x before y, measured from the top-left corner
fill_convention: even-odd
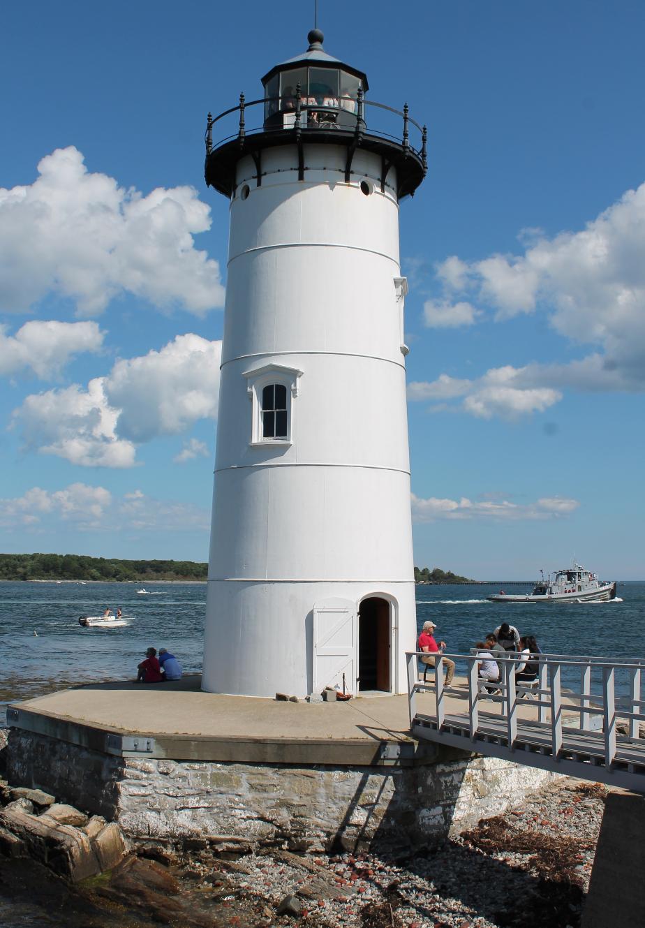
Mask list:
[[[244,371],[252,401],[251,445],[292,444],[293,400],[302,374],[302,370],[279,364]]]

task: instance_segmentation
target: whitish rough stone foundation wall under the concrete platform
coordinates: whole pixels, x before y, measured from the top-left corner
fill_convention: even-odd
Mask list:
[[[140,840],[292,850],[404,848],[497,815],[554,774],[447,749],[423,767],[277,767],[117,758],[12,731],[8,777]]]

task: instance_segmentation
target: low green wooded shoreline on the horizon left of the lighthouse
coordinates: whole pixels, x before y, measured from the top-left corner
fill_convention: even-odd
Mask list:
[[[0,554],[0,580],[205,580],[208,564],[119,561],[84,554]]]

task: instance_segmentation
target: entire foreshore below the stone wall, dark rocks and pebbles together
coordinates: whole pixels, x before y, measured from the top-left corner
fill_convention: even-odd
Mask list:
[[[69,928],[578,928],[605,796],[562,778],[406,857],[149,842],[77,883],[0,857],[0,922],[63,909]]]

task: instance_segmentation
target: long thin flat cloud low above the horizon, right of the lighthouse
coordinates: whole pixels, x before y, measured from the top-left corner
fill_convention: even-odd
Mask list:
[[[466,496],[458,500],[435,496],[423,499],[413,493],[412,518],[414,522],[436,522],[440,519],[485,519],[497,522],[559,519],[570,515],[579,505],[576,499],[561,496],[545,496],[521,506],[503,498],[473,502]]]

